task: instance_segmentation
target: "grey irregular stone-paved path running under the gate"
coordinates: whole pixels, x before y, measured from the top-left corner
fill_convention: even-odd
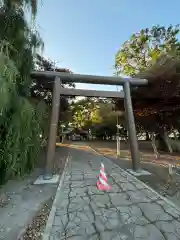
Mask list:
[[[119,167],[89,151],[71,150],[51,240],[177,240],[180,211]],[[113,189],[96,188],[103,159]]]

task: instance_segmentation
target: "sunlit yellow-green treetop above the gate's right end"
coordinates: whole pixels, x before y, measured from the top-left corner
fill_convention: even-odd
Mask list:
[[[163,53],[180,53],[179,25],[153,26],[133,34],[115,56],[118,74],[134,76],[150,67]]]

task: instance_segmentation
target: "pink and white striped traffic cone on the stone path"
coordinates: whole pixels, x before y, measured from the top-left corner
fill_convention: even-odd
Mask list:
[[[100,191],[109,191],[112,187],[107,183],[108,179],[104,170],[104,164],[101,163],[100,174],[97,181],[97,188]]]

